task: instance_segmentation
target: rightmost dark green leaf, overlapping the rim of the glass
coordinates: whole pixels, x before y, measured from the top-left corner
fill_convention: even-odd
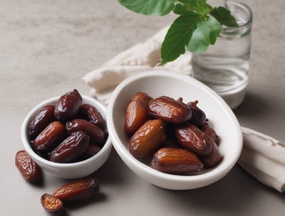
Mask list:
[[[239,26],[234,16],[232,16],[231,12],[225,7],[219,6],[218,8],[214,8],[210,14],[214,16],[221,25],[229,27]]]

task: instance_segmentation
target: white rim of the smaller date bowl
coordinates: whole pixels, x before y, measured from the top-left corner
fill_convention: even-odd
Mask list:
[[[98,153],[96,153],[94,156],[87,158],[86,160],[83,160],[83,161],[78,161],[78,162],[73,162],[73,163],[55,163],[52,161],[48,161],[45,158],[42,158],[35,151],[33,151],[33,148],[31,147],[31,144],[28,141],[28,124],[31,122],[31,119],[35,116],[36,112],[38,112],[39,109],[41,109],[44,105],[47,105],[47,104],[55,104],[56,100],[59,97],[61,97],[61,96],[50,97],[48,99],[43,100],[42,102],[38,103],[35,107],[33,107],[33,109],[31,109],[31,111],[28,112],[28,114],[24,118],[24,121],[21,125],[21,140],[22,140],[22,143],[24,145],[24,149],[27,151],[28,155],[31,156],[31,158],[34,161],[39,163],[39,165],[49,166],[49,167],[53,167],[53,168],[67,168],[67,169],[68,168],[81,167],[81,166],[88,164],[91,161],[94,161],[97,158],[100,158],[101,156],[103,156],[105,151],[107,151],[108,148],[112,147],[112,144],[110,141],[110,134],[108,135],[108,139],[105,141],[103,148],[101,148],[100,151],[98,151]],[[102,111],[105,112],[105,114],[103,114],[103,119],[106,120],[107,108],[105,107],[105,105],[103,105],[100,101],[98,101],[98,99],[95,99],[93,97],[89,97],[86,95],[81,95],[81,97],[83,98],[83,101],[86,101],[84,103],[88,103],[88,102],[95,103],[95,107],[96,108],[99,107],[101,112],[99,110],[98,111],[101,114],[102,114]]]

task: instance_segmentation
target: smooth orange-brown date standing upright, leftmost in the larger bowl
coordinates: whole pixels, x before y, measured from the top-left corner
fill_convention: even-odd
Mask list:
[[[152,97],[146,93],[137,92],[127,107],[125,114],[125,132],[133,135],[150,116],[148,114],[148,104]]]

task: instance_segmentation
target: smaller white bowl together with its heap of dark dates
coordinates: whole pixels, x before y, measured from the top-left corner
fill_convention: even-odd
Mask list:
[[[66,92],[38,104],[24,119],[21,138],[28,155],[60,178],[81,178],[110,155],[106,108],[98,100]]]

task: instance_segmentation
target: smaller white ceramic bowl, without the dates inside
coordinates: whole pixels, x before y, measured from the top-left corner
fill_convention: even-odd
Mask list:
[[[83,103],[93,105],[93,107],[98,109],[98,112],[100,112],[103,119],[106,119],[107,109],[103,104],[101,104],[98,100],[93,99],[92,97],[87,97],[84,95],[81,96],[83,98]],[[31,143],[28,138],[28,124],[31,122],[32,118],[36,115],[38,110],[41,109],[41,107],[47,104],[56,104],[58,98],[59,97],[52,97],[50,99],[46,99],[34,107],[31,112],[27,114],[21,126],[21,139],[24,144],[24,148],[27,151],[28,155],[33,159],[33,161],[36,161],[36,163],[38,163],[38,165],[41,166],[44,171],[50,173],[51,175],[54,175],[58,178],[85,177],[97,171],[98,168],[100,168],[110,156],[112,149],[110,137],[108,137],[103,148],[101,148],[100,151],[95,154],[95,156],[92,156],[85,161],[76,163],[54,163],[46,160],[45,158],[42,158],[41,156],[38,156],[38,154],[31,148]]]

